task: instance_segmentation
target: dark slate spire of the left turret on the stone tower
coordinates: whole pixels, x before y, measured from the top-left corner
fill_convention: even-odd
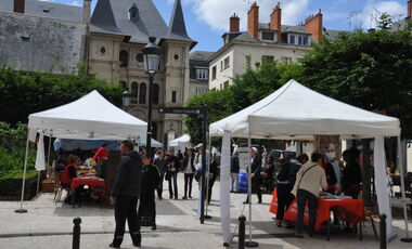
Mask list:
[[[123,31],[117,27],[115,16],[113,15],[110,0],[99,0],[90,24],[100,29],[121,35]]]

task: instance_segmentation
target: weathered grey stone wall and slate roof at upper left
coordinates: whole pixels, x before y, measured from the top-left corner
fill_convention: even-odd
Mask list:
[[[90,0],[85,3],[90,11]],[[87,28],[80,6],[1,0],[0,21],[0,66],[68,74],[85,58]]]

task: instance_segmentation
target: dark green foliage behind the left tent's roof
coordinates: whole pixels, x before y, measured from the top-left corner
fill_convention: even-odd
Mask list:
[[[31,113],[75,101],[98,90],[113,104],[121,104],[121,88],[86,74],[50,75],[0,68],[0,121],[27,122]]]

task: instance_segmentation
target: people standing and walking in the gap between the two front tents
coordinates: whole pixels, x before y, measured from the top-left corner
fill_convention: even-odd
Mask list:
[[[193,179],[203,168],[203,145],[199,144],[196,148],[197,152],[188,148],[181,158],[175,155],[175,150],[169,150],[166,154],[160,149],[152,156],[146,153],[145,148],[141,153],[133,150],[133,144],[130,141],[121,142],[119,148],[121,159],[111,193],[111,204],[115,206],[116,230],[110,247],[120,247],[126,220],[133,246],[137,247],[141,246],[140,228],[143,221],[147,221],[152,230],[156,230],[155,193],[157,192],[158,199],[163,199],[164,179],[168,181],[169,198],[178,199],[177,178],[179,172],[183,172],[184,195],[182,199],[192,198]],[[216,157],[211,155],[208,159],[210,171],[208,202],[210,202],[211,187],[217,176],[218,167]]]

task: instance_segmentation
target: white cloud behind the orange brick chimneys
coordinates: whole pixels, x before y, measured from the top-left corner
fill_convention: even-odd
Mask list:
[[[173,2],[173,0],[168,0]],[[247,11],[254,0],[182,0],[183,4],[191,5],[197,18],[208,24],[214,30],[228,31],[229,17],[236,13],[241,18],[241,29],[246,29]],[[270,14],[278,1],[257,0],[259,5],[259,22],[268,23]],[[309,0],[280,0],[282,8],[282,23],[296,25],[306,16]],[[314,14],[314,13],[313,13]]]

